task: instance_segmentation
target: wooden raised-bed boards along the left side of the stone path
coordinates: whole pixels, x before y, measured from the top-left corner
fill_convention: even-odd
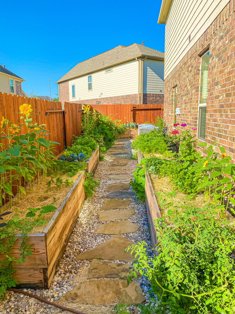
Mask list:
[[[99,163],[99,149],[93,152],[87,163],[89,172],[94,173]],[[43,232],[30,234],[27,244],[32,244],[32,255],[27,256],[24,263],[12,264],[16,269],[13,277],[19,283],[17,288],[50,287],[86,198],[84,180],[85,174],[81,173]],[[17,240],[13,245],[12,256],[20,258],[19,246],[22,240],[20,234],[15,237]]]

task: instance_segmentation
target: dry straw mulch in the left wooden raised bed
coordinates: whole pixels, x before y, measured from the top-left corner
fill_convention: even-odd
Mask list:
[[[51,177],[45,177],[42,179],[42,181],[39,180],[39,182],[34,183],[34,188],[30,191],[29,187],[26,188],[26,195],[22,195],[22,199],[19,200],[19,203],[17,204],[17,197],[15,196],[12,199],[13,206],[12,208],[9,207],[9,203],[3,208],[4,212],[12,211],[12,214],[9,214],[6,216],[4,221],[8,221],[12,219],[15,215],[18,215],[19,219],[24,219],[26,214],[29,212],[27,208],[41,208],[43,206],[51,205],[58,208],[62,201],[64,200],[65,196],[68,194],[71,186],[66,186],[64,184],[66,179],[69,179],[73,183],[77,180],[77,178],[80,176],[82,171],[79,171],[75,176],[71,177],[68,174],[59,174],[53,178],[55,181],[57,177],[60,177],[63,180],[63,183],[61,185],[60,190],[56,190],[55,185],[52,183],[51,188],[49,191],[47,191],[47,185],[46,183],[51,180]],[[47,220],[47,222],[52,218],[52,216],[55,214],[55,211],[52,211],[47,214],[43,214],[42,218],[43,220]],[[29,218],[33,220],[33,218]],[[41,225],[39,227],[35,227],[31,230],[31,233],[41,233],[47,224],[47,222],[44,225]],[[16,230],[16,232],[20,232],[20,230]]]

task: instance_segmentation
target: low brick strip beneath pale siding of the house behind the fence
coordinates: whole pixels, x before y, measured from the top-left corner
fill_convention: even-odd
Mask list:
[[[139,103],[141,102],[141,94],[139,96]],[[61,100],[60,100],[61,101]],[[69,101],[69,100],[65,100]],[[122,96],[113,96],[113,97],[99,97],[93,99],[83,99],[83,100],[74,100],[70,102],[79,102],[84,104],[96,105],[97,101],[101,102],[101,105],[109,104],[134,104],[138,105],[138,94],[122,95]],[[163,104],[164,94],[143,94],[143,103],[144,104]]]

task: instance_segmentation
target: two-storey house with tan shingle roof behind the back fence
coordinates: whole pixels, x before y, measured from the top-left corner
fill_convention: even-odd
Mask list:
[[[164,101],[164,52],[117,46],[78,63],[56,83],[60,101],[152,104]]]

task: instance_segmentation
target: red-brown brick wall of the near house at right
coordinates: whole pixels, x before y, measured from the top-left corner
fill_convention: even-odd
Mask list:
[[[235,160],[235,0],[231,0],[206,32],[165,78],[164,120],[172,130],[173,87],[177,85],[176,122],[197,127],[200,54],[210,46],[206,105],[207,143],[217,141]],[[219,151],[217,149],[217,151]]]

